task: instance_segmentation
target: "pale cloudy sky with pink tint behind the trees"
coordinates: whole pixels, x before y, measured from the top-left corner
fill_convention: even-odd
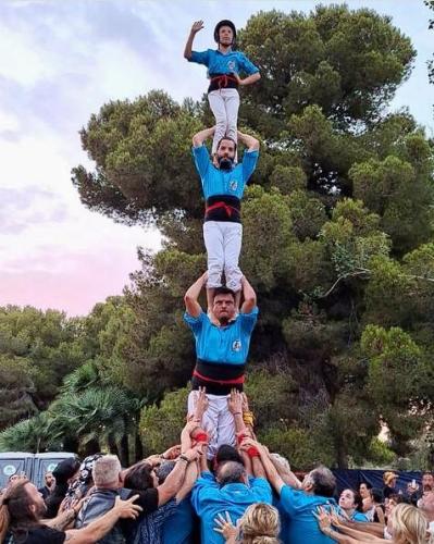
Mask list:
[[[116,224],[80,203],[71,170],[92,168],[78,136],[91,113],[110,100],[134,100],[153,88],[178,101],[201,98],[204,69],[183,59],[196,20],[206,28],[195,46],[207,49],[221,18],[243,27],[260,10],[309,12],[317,3],[0,0],[0,306],[85,314],[122,293],[128,274],[139,268],[137,247],[160,248],[157,231]],[[430,11],[422,0],[347,4],[390,15],[411,38],[418,58],[392,110],[408,107],[434,136],[426,75],[434,50]]]

